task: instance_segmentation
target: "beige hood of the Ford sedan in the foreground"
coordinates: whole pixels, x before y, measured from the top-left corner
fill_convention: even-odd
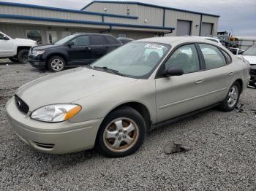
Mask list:
[[[32,112],[49,104],[72,103],[136,80],[104,71],[77,68],[29,82],[20,87],[16,95],[28,104],[29,111]]]

